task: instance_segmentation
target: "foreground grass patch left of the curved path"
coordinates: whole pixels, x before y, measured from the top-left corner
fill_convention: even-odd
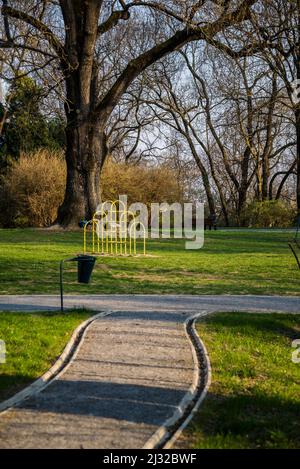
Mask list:
[[[0,401],[46,372],[73,331],[91,313],[0,314],[0,339],[6,343],[6,363],[0,363]]]

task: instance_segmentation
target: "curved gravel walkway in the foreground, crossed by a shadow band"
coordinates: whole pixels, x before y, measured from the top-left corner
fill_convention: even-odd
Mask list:
[[[66,371],[0,414],[0,448],[140,448],[176,410],[194,363],[180,313],[97,319]]]

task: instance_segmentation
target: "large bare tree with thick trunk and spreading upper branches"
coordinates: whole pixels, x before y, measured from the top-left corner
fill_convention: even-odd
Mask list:
[[[108,153],[106,125],[121,97],[139,74],[188,42],[206,41],[223,48],[223,33],[251,17],[256,0],[240,1],[110,1],[3,0],[4,37],[0,47],[23,48],[35,56],[55,58],[66,88],[67,186],[57,223],[74,226],[90,217],[99,202],[100,172]],[[114,54],[99,63],[97,51],[116,43],[120,24],[124,35],[141,31],[142,52],[127,54],[122,70],[110,73],[107,87],[98,89],[99,75],[111,70]],[[31,43],[18,35],[27,24]],[[147,31],[157,31],[156,38]],[[234,54],[247,54],[257,47],[239,43]],[[228,48],[228,46],[226,46]],[[101,77],[100,77],[101,78]],[[100,83],[103,80],[100,79]]]

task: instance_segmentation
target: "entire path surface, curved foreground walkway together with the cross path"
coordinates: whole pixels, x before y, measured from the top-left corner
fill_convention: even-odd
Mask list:
[[[142,448],[195,379],[184,322],[195,312],[300,312],[295,297],[89,296],[68,307],[114,310],[87,328],[68,366],[0,414],[0,448]],[[0,310],[57,307],[54,296],[0,297]],[[149,445],[149,444],[148,444]]]

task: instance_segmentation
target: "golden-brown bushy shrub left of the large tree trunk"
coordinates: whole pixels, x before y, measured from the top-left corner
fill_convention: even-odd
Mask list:
[[[2,226],[49,226],[56,218],[65,190],[66,168],[59,152],[21,154],[2,179]]]

